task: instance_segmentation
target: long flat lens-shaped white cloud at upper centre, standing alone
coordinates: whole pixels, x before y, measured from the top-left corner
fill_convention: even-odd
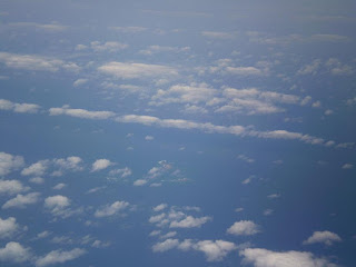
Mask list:
[[[176,77],[178,71],[168,66],[131,63],[131,62],[109,62],[98,68],[100,72],[120,79],[142,79],[152,77]]]

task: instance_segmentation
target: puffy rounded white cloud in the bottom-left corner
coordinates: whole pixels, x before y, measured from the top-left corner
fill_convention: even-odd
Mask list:
[[[0,248],[0,261],[23,263],[32,258],[30,249],[19,243],[10,241],[4,248]]]

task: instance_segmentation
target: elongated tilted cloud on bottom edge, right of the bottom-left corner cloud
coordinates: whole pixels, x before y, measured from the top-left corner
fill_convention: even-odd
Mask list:
[[[40,257],[36,260],[37,267],[43,267],[48,265],[55,264],[63,264],[69,260],[73,260],[79,258],[80,256],[85,255],[87,251],[81,248],[73,248],[71,250],[52,250],[43,257]]]

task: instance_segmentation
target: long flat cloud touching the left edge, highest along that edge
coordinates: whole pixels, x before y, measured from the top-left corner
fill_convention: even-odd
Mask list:
[[[60,59],[46,58],[33,55],[0,52],[0,62],[4,63],[8,68],[30,71],[56,72],[61,69],[68,71],[80,70],[80,67],[73,62],[65,62]]]

